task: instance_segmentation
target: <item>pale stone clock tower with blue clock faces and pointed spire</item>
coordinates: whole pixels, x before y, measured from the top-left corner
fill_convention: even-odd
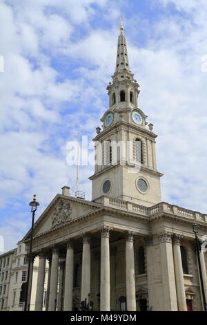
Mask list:
[[[109,108],[101,118],[102,130],[95,137],[96,165],[92,200],[103,196],[147,207],[161,202],[153,124],[139,109],[139,84],[130,71],[126,37],[121,23],[117,62],[107,86]]]

